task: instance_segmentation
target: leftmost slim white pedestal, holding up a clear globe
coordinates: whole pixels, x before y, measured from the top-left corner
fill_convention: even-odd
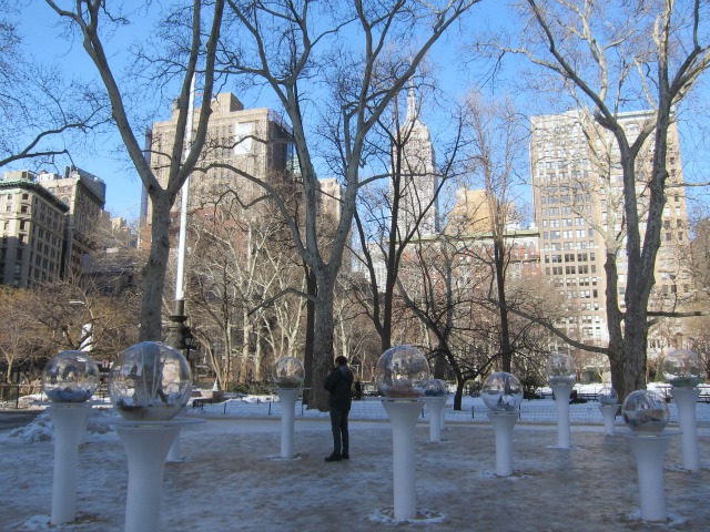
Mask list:
[[[52,524],[69,523],[77,515],[77,464],[79,443],[91,416],[90,403],[52,403],[48,408],[54,426],[54,478]]]

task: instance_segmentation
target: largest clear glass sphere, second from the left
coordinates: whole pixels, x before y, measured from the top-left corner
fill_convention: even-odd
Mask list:
[[[190,400],[192,376],[182,354],[159,341],[123,351],[111,368],[109,395],[114,408],[132,421],[165,421]]]

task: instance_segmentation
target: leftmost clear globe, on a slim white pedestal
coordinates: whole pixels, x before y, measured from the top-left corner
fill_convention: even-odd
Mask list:
[[[99,388],[99,366],[84,351],[62,351],[42,370],[42,389],[54,402],[84,402]]]

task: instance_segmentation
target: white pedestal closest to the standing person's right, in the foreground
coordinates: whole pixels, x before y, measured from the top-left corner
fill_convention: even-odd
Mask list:
[[[392,423],[394,513],[397,521],[405,521],[417,514],[415,434],[422,401],[384,399],[383,406]]]

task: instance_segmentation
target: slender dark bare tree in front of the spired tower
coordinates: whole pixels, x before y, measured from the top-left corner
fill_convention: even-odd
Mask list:
[[[422,235],[438,231],[439,193],[454,177],[462,143],[460,134],[456,134],[462,131],[458,116],[455,121],[458,120],[459,127],[452,133],[453,146],[442,157],[444,162],[436,164],[414,83],[410,81],[408,85],[407,105],[400,105],[400,99],[395,98],[368,140],[369,160],[378,160],[383,173],[367,180],[354,213],[359,237],[356,257],[359,269],[366,270],[369,279],[369,289],[356,294],[363,296],[361,304],[379,335],[383,352],[392,347],[395,286],[403,254]],[[374,166],[372,162],[371,165]],[[386,184],[381,183],[385,180]],[[384,276],[377,274],[379,270],[384,270]]]

